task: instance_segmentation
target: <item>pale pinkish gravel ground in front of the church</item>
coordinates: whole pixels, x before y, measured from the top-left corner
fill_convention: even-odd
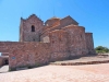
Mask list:
[[[109,82],[109,63],[45,66],[0,73],[0,82]]]

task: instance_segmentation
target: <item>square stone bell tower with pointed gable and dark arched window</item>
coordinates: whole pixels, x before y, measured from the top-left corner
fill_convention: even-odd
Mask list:
[[[44,22],[34,14],[31,15],[28,19],[22,21],[23,24],[21,24],[21,40],[39,42],[40,33],[43,32],[44,27]],[[35,32],[32,32],[32,26],[35,27]]]

